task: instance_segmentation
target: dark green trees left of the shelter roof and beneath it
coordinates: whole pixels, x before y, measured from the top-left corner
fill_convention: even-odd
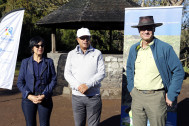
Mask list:
[[[46,16],[50,12],[54,11],[63,4],[69,2],[69,0],[1,0],[3,8],[2,15],[8,13],[14,9],[25,8],[24,21],[22,26],[22,34],[19,45],[19,58],[24,58],[31,55],[28,51],[29,40],[31,37],[40,35],[48,42],[46,51],[51,51],[51,29],[37,26],[35,23]],[[110,36],[109,31],[96,30],[91,31],[92,45],[95,48],[102,50],[104,53],[122,51],[123,48],[123,34],[119,31],[112,31]],[[75,48],[76,30],[64,30],[56,29],[56,44],[57,50],[61,52],[68,52]],[[119,37],[118,37],[119,36]],[[117,38],[121,38],[118,40]]]

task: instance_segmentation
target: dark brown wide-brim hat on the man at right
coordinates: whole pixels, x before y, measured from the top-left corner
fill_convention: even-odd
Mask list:
[[[138,25],[131,26],[133,28],[139,28],[142,26],[154,26],[154,27],[159,27],[163,25],[163,23],[155,23],[153,16],[144,16],[144,17],[139,17],[139,23]]]

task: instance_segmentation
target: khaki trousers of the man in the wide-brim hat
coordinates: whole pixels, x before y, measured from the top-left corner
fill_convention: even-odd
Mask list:
[[[133,88],[131,96],[133,126],[147,126],[147,120],[149,120],[150,126],[165,126],[167,105],[164,90],[145,94]]]

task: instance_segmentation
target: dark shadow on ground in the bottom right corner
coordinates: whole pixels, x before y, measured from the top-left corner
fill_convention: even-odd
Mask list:
[[[177,108],[177,125],[178,126],[189,126],[189,98],[185,98],[178,103]]]

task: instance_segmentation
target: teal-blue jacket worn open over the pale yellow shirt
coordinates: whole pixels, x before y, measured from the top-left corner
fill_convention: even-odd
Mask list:
[[[135,60],[139,48],[140,42],[131,46],[127,59],[126,74],[127,88],[129,92],[131,92],[134,87]],[[150,48],[160,76],[163,80],[163,85],[167,91],[168,99],[174,101],[180,93],[185,75],[182,64],[175,54],[172,46],[169,44],[154,38],[154,44],[151,45]]]

